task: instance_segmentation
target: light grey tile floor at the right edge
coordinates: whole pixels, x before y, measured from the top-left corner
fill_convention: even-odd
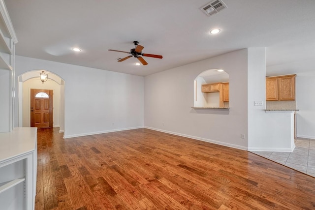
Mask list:
[[[252,151],[255,154],[315,177],[315,139],[298,138],[292,152]]]

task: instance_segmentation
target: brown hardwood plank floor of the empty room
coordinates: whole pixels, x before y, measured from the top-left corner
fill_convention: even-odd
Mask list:
[[[315,178],[244,150],[135,129],[38,130],[36,210],[315,209]]]

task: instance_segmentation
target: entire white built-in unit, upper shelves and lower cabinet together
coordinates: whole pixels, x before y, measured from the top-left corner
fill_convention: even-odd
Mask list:
[[[0,210],[33,210],[37,128],[14,127],[17,38],[0,0]]]

